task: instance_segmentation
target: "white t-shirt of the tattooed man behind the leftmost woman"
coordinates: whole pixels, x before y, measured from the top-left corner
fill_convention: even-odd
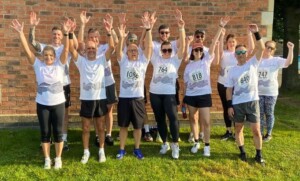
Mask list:
[[[64,45],[60,45],[59,47],[55,47],[52,45],[46,45],[43,43],[40,43],[40,45],[41,45],[41,52],[39,52],[40,54],[43,52],[43,50],[46,46],[51,46],[55,50],[55,54],[56,54],[55,60],[60,61],[60,55],[64,49]],[[69,74],[70,62],[71,62],[71,55],[69,54],[67,63],[65,65],[63,65],[64,66],[64,82],[63,82],[64,86],[71,84],[71,79],[70,79],[70,74]]]

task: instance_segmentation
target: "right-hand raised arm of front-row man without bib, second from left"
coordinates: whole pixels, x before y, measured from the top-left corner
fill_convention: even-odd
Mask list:
[[[103,26],[105,27],[107,38],[108,38],[108,49],[105,52],[106,60],[110,60],[112,53],[115,50],[114,39],[112,36],[112,23],[113,17],[110,14],[106,14],[105,18],[103,19]]]

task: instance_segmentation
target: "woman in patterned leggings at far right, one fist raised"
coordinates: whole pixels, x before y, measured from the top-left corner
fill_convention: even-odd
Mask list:
[[[260,130],[264,134],[264,126],[267,126],[267,132],[263,140],[268,142],[272,139],[272,129],[275,122],[274,109],[278,96],[278,70],[287,68],[293,62],[294,44],[287,43],[289,49],[287,58],[273,57],[276,50],[274,41],[265,43],[265,50],[262,61],[258,67],[258,94],[260,107]]]

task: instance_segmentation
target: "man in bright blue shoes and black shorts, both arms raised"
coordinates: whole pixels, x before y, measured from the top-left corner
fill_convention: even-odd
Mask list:
[[[124,19],[125,13],[119,15],[119,19]],[[117,159],[122,159],[125,152],[125,143],[128,135],[130,122],[134,131],[134,151],[133,154],[138,159],[144,156],[140,149],[142,127],[146,116],[144,103],[144,81],[147,66],[152,55],[152,36],[149,16],[142,17],[143,27],[146,29],[145,49],[143,55],[139,56],[138,46],[129,44],[127,56],[123,53],[124,39],[126,37],[125,24],[120,22],[119,37],[120,42],[116,48],[117,60],[120,65],[120,95],[118,103],[118,125],[120,127],[120,149]]]

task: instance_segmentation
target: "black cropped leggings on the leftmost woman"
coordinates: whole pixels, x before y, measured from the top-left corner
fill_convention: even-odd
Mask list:
[[[49,143],[51,137],[51,127],[53,138],[56,143],[62,142],[62,128],[65,115],[65,103],[45,106],[37,103],[37,116],[41,129],[41,141]]]

